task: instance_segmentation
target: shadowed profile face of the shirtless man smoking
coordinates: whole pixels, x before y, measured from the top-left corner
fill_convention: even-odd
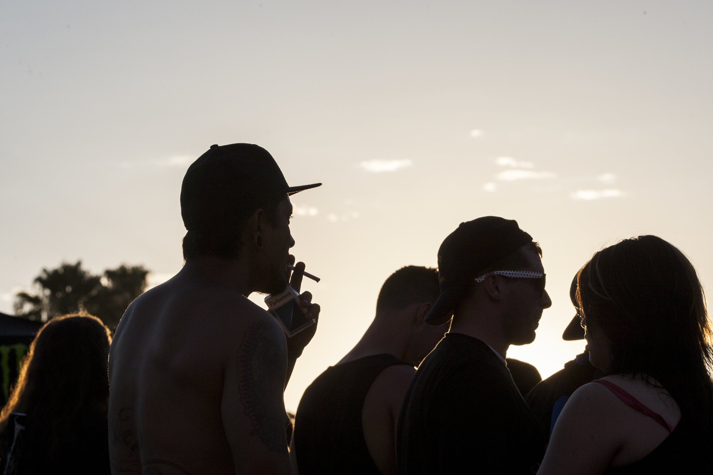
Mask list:
[[[279,293],[287,287],[289,270],[289,248],[294,246],[294,239],[289,232],[289,219],[292,217],[292,203],[285,196],[275,211],[275,216],[263,214],[262,253],[260,265],[265,268],[265,288],[260,292]]]

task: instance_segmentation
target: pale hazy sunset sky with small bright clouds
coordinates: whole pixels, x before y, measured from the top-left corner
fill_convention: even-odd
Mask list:
[[[322,314],[288,410],[386,277],[478,216],[543,248],[553,305],[508,352],[543,377],[583,350],[569,285],[602,246],[656,234],[713,286],[709,1],[9,0],[0,84],[5,313],[62,261],[178,272],[181,180],[214,143],[324,183],[292,199]]]

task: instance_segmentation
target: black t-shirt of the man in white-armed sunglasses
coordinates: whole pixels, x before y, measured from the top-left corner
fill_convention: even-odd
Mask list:
[[[545,447],[506,365],[448,333],[411,381],[397,449],[400,474],[530,474]]]

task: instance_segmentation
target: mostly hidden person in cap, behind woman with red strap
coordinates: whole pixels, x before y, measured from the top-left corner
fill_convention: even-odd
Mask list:
[[[584,328],[577,303],[577,275],[570,286],[570,300],[577,309],[570,324],[565,328],[562,339],[566,341],[584,340]],[[550,439],[555,422],[565,407],[565,402],[580,386],[598,380],[605,374],[589,362],[589,352],[577,355],[574,360],[565,363],[565,367],[546,380],[539,382],[525,396],[530,409],[537,417],[546,439]]]

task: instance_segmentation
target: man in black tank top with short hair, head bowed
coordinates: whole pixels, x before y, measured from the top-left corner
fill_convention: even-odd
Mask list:
[[[438,272],[407,266],[386,279],[359,343],[307,387],[297,407],[293,469],[312,474],[396,474],[396,424],[406,388],[446,325],[425,323]]]

